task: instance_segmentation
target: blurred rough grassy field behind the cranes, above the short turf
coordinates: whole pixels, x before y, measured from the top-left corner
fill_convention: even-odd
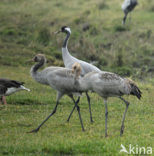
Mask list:
[[[63,66],[64,34],[72,29],[69,50],[75,57],[102,70],[134,77],[154,72],[154,2],[140,0],[122,26],[122,0],[1,0],[0,64],[27,66],[36,53],[49,56],[51,64]]]

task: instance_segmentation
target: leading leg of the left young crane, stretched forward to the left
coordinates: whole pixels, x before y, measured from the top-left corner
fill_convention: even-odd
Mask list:
[[[59,104],[59,100],[61,99],[61,97],[63,96],[64,94],[58,92],[57,94],[57,102],[56,102],[56,106],[55,108],[53,109],[52,113],[36,128],[36,129],[33,129],[32,131],[28,132],[28,133],[33,133],[33,132],[38,132],[40,127],[53,115],[56,113],[56,110],[57,110],[57,106]]]

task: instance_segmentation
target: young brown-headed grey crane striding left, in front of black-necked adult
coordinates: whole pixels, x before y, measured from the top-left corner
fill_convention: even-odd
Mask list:
[[[56,106],[54,107],[51,114],[36,129],[30,131],[29,133],[38,132],[40,127],[53,114],[56,113],[59,100],[65,94],[68,95],[73,100],[75,107],[77,108],[77,111],[79,114],[79,119],[80,119],[82,130],[84,131],[82,118],[80,114],[80,107],[78,106],[80,96],[78,97],[77,101],[75,101],[73,98],[73,94],[76,92],[78,93],[78,90],[76,90],[75,85],[74,85],[74,76],[72,74],[72,70],[66,69],[63,67],[47,67],[39,72],[38,69],[41,68],[46,62],[45,56],[42,54],[38,54],[33,58],[33,61],[37,63],[31,68],[30,73],[31,73],[32,78],[41,84],[49,85],[50,87],[55,89],[57,91],[57,99],[56,99]]]

